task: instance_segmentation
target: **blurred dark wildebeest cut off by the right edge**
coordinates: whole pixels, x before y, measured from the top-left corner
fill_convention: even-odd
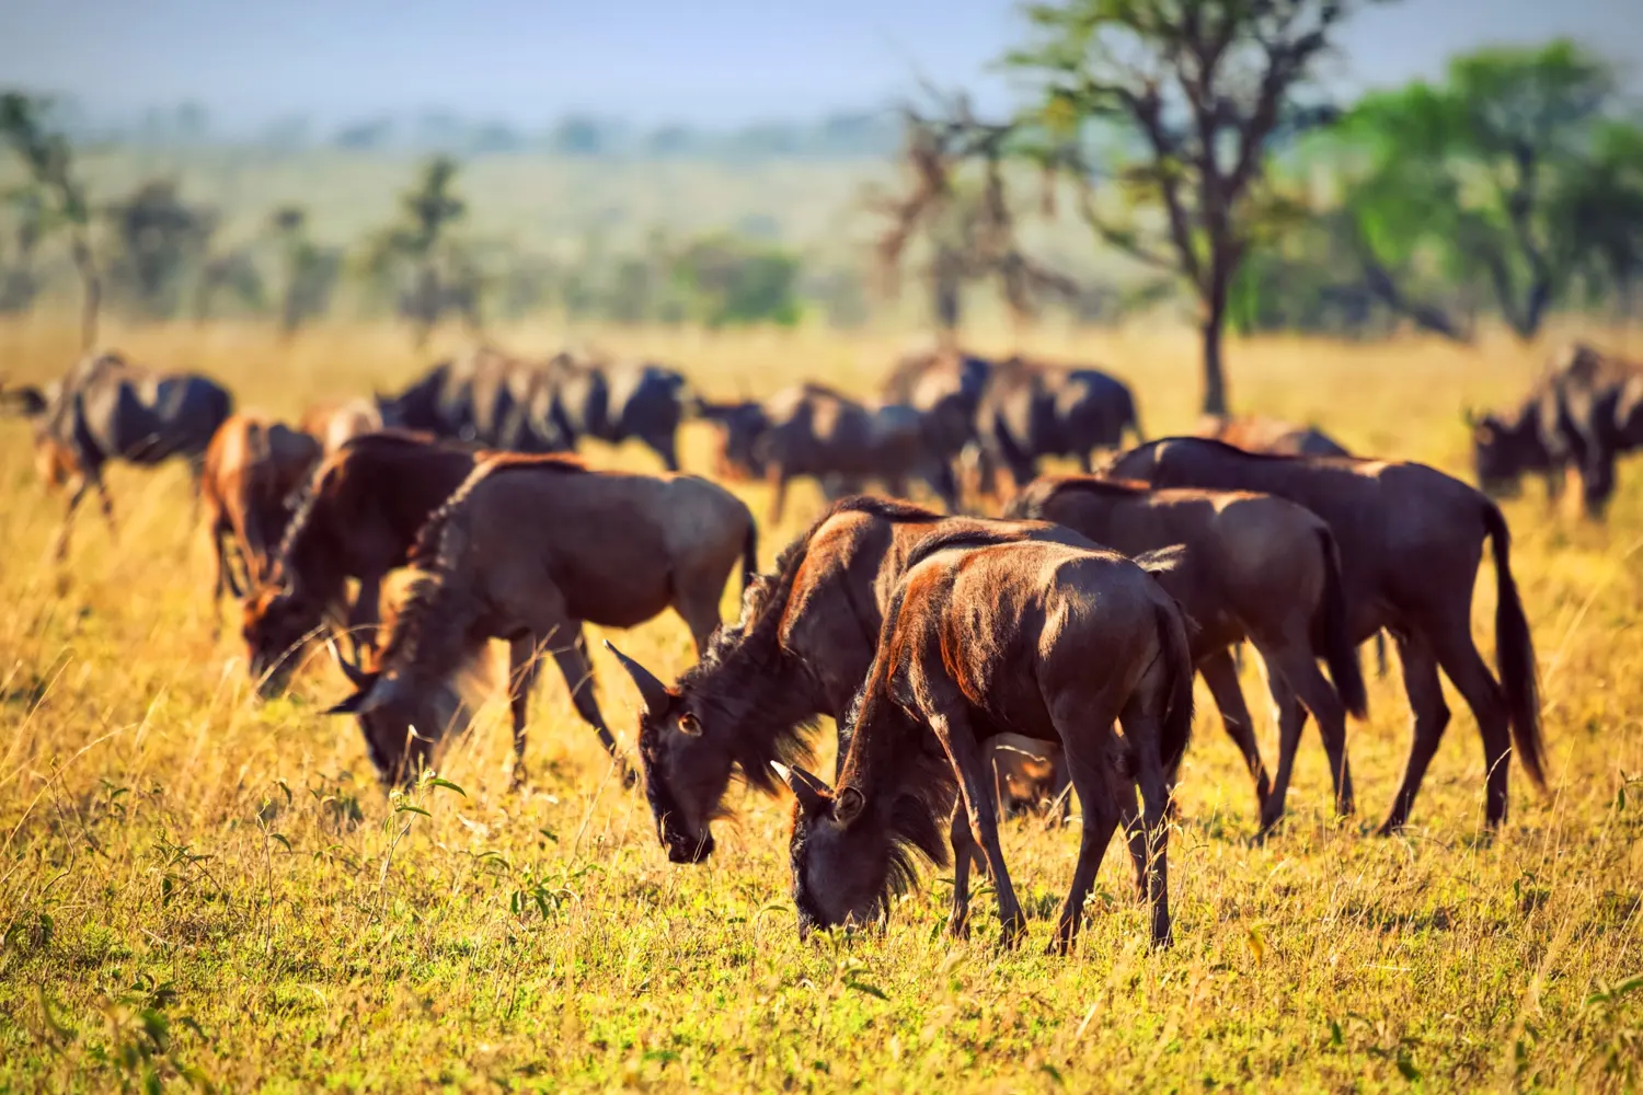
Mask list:
[[[1581,476],[1585,512],[1602,519],[1615,491],[1615,456],[1643,447],[1643,366],[1574,343],[1510,412],[1467,412],[1477,484],[1508,497],[1528,473],[1546,476],[1556,501],[1564,476]]]

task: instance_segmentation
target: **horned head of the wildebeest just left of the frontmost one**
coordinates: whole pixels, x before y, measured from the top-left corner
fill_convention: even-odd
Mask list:
[[[713,821],[736,763],[734,742],[700,711],[688,688],[669,688],[647,668],[605,644],[639,688],[639,763],[656,834],[667,859],[700,864],[713,854]]]

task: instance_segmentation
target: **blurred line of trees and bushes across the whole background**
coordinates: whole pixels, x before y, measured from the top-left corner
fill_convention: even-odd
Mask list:
[[[1336,25],[1372,2],[1032,5],[1033,38],[1007,62],[1037,99],[1002,121],[978,120],[956,95],[900,118],[840,115],[711,140],[596,118],[531,138],[565,156],[854,154],[882,153],[894,131],[902,182],[859,195],[854,215],[877,230],[854,264],[752,230],[652,231],[616,248],[590,227],[575,246],[527,251],[472,228],[460,159],[445,153],[422,161],[363,240],[319,240],[307,210],[289,204],[230,241],[217,210],[174,179],[89,195],[72,117],[7,94],[0,146],[20,167],[5,177],[20,182],[0,192],[0,312],[77,284],[87,341],[104,307],[156,320],[268,317],[286,333],[329,315],[391,315],[422,340],[445,322],[476,330],[532,314],[849,327],[917,284],[918,310],[948,333],[981,300],[1020,320],[1045,307],[1078,322],[1190,307],[1204,332],[1206,405],[1226,404],[1224,328],[1418,327],[1470,340],[1498,322],[1531,338],[1556,312],[1631,315],[1643,120],[1615,66],[1567,41],[1485,49],[1454,57],[1438,80],[1332,103],[1311,64]],[[146,125],[145,140],[209,133],[197,108]],[[437,113],[416,125],[429,148],[509,151],[522,140]],[[396,131],[366,121],[332,141],[375,148],[406,140]],[[286,138],[307,140],[294,128]],[[1066,213],[1096,246],[1127,256],[1122,286],[1086,284],[1024,246],[1029,220]]]

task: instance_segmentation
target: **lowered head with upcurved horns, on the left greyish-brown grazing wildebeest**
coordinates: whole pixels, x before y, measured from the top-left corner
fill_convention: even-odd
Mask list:
[[[348,663],[330,644],[353,693],[325,714],[360,719],[365,749],[378,778],[389,786],[416,783],[434,760],[434,745],[449,729],[465,729],[470,711],[449,681],[417,681],[403,673],[365,670]]]

